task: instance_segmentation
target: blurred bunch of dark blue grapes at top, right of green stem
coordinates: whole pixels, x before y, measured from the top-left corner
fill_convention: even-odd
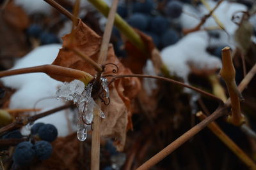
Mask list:
[[[163,2],[166,3],[165,7],[159,9],[157,6]],[[180,31],[173,26],[172,21],[182,14],[183,3],[188,3],[188,1],[133,1],[127,4],[118,4],[117,13],[129,25],[150,36],[157,48],[161,50],[161,48],[179,41]],[[113,43],[116,55],[125,57],[126,54],[120,46],[120,44],[123,45],[122,39],[120,36],[116,36],[116,31],[113,31],[112,36],[115,36]]]

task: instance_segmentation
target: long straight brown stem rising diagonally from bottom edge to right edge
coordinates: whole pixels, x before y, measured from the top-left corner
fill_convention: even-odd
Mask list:
[[[244,77],[243,81],[241,81],[238,89],[240,92],[244,90],[244,88],[250,83],[252,80],[253,76],[256,73],[256,64],[252,67],[252,69],[249,71],[248,74]],[[209,117],[205,118],[202,122],[199,124],[195,125],[189,131],[185,132],[180,136],[179,138],[175,139],[172,143],[170,143],[166,148],[158,152],[156,155],[154,155],[152,158],[147,160],[144,164],[142,164],[140,167],[138,167],[137,170],[145,170],[149,169],[150,167],[156,165],[158,162],[163,160],[166,156],[170,155],[174,150],[179,148],[183,143],[191,139],[195,134],[200,132],[204,127],[206,127],[208,124],[216,120],[217,118],[221,117],[222,115],[225,114],[225,110],[230,107],[230,99],[228,99],[223,106],[219,106],[214,113],[212,113]]]

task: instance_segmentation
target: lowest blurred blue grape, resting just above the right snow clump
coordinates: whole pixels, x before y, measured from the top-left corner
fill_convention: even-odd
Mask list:
[[[169,29],[168,31],[164,32],[161,36],[161,44],[164,46],[173,45],[177,41],[179,41],[179,36],[176,31],[173,29]]]

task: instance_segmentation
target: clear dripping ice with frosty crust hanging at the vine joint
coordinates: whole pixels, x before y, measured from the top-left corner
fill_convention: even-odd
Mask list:
[[[104,78],[102,80],[103,90],[108,95],[108,81]],[[74,101],[78,108],[77,121],[77,138],[84,141],[87,137],[87,127],[92,124],[93,110],[98,110],[100,117],[105,118],[102,110],[100,110],[97,103],[92,98],[92,83],[84,87],[84,83],[79,80],[73,80],[70,83],[65,82],[56,92],[57,99],[64,99],[65,101]]]

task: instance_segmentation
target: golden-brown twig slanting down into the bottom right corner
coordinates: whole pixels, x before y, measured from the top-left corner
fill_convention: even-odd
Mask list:
[[[204,120],[206,117],[206,115],[204,115],[204,113],[202,113],[202,111],[199,111],[198,113],[196,113],[196,117],[200,118],[200,120]],[[242,125],[243,126],[243,125]],[[227,134],[225,134],[225,132],[223,132],[220,127],[215,123],[212,122],[211,124],[209,124],[207,127],[209,127],[209,129],[211,129],[211,131],[223,142],[225,143],[225,145],[230,148],[230,150],[232,152],[234,152],[237,157],[239,157],[240,160],[242,160],[244,162],[244,164],[246,164],[246,166],[250,167],[250,169],[256,169],[256,164],[255,162],[253,162],[252,159],[250,159],[250,157],[248,157],[248,155],[246,155],[246,153],[243,152],[243,150],[241,150],[241,148],[239,148],[239,146],[236,145],[236,143],[234,143],[234,141],[232,141],[232,139],[230,139]]]

